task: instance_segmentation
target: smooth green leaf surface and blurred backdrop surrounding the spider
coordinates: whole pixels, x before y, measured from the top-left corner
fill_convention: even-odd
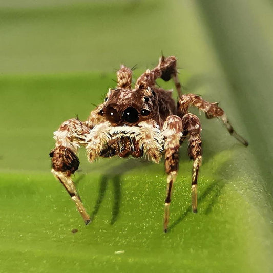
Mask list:
[[[269,0],[0,1],[0,272],[272,272],[272,26]],[[250,145],[200,116],[199,212],[184,145],[167,234],[162,164],[82,150],[84,226],[50,174],[52,133],[87,118],[121,63],[136,79],[161,51]]]

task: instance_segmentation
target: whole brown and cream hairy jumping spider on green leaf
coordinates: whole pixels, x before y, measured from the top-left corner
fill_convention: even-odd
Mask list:
[[[178,103],[172,92],[159,88],[156,79],[174,79],[179,95]],[[169,222],[169,208],[173,184],[178,171],[178,151],[188,138],[188,156],[193,160],[192,210],[197,212],[197,177],[202,161],[201,124],[199,118],[188,112],[195,106],[208,119],[222,120],[228,132],[245,146],[247,141],[238,135],[218,103],[209,103],[194,94],[182,94],[177,77],[176,58],[161,57],[153,70],[147,70],[132,88],[132,70],[121,66],[117,72],[117,87],[110,89],[102,104],[82,122],[69,119],[54,132],[55,149],[52,173],[65,186],[86,224],[86,212],[71,175],[78,169],[77,150],[85,146],[87,157],[93,162],[98,157],[142,157],[156,163],[165,157],[167,191],[164,209],[164,231]]]

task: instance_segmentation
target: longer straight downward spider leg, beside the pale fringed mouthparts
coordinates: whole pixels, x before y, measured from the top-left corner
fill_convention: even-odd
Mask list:
[[[173,192],[173,184],[176,181],[178,164],[179,164],[179,148],[180,139],[182,137],[182,120],[180,117],[170,115],[163,124],[163,136],[165,137],[165,172],[167,173],[167,189],[165,199],[165,209],[163,217],[164,232],[167,232],[167,227],[170,218],[170,204]]]

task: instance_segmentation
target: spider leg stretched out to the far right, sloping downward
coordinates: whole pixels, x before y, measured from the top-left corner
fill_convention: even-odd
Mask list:
[[[234,128],[228,121],[224,110],[218,106],[217,102],[210,103],[202,99],[200,96],[194,94],[182,95],[178,102],[178,116],[182,117],[183,115],[188,113],[188,108],[190,106],[195,106],[198,109],[202,110],[208,119],[215,117],[221,119],[230,135],[235,137],[243,145],[248,146],[248,142],[234,130]]]

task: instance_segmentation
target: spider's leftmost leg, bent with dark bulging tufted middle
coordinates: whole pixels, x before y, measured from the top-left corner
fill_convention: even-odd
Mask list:
[[[86,134],[90,129],[77,119],[69,119],[54,132],[55,149],[50,152],[52,157],[51,172],[64,185],[86,224],[90,216],[83,206],[71,175],[78,169],[79,160],[76,155],[79,146],[84,146]]]

